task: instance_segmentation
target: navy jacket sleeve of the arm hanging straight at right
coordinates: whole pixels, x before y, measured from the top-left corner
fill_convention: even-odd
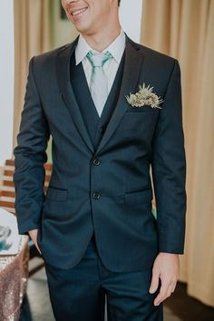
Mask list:
[[[163,97],[152,141],[152,180],[159,251],[183,254],[186,216],[186,156],[182,128],[180,65],[177,60]]]

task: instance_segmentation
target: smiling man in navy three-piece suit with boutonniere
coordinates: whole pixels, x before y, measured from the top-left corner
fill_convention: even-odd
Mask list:
[[[102,321],[105,296],[109,320],[162,320],[184,247],[179,63],[123,33],[118,0],[62,5],[80,36],[29,64],[15,148],[19,231],[42,252],[56,320]]]

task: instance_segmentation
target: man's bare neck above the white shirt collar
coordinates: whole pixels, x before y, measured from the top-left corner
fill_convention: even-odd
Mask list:
[[[92,47],[92,49],[102,52],[105,48],[107,48],[114,39],[121,33],[121,26],[118,24],[117,28],[113,28],[113,30],[106,30],[102,33],[97,34],[87,34],[83,33],[83,38],[85,41]]]

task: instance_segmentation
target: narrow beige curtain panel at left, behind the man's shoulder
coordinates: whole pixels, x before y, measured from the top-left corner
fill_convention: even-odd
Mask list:
[[[14,146],[19,131],[28,62],[34,54],[50,49],[50,0],[14,0],[15,109]]]

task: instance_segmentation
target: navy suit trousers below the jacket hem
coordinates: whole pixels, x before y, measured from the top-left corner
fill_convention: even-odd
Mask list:
[[[45,262],[44,262],[45,263]],[[70,269],[45,263],[56,321],[162,321],[163,308],[149,293],[151,269],[112,272],[102,264],[92,237],[81,261]]]

